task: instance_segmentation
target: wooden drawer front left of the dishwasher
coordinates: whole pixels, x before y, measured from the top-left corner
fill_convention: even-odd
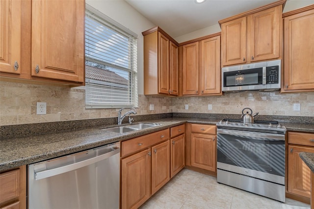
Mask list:
[[[19,197],[20,169],[0,174],[0,203]]]

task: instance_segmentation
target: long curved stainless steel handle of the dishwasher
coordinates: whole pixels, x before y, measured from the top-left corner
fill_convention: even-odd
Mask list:
[[[92,157],[92,158],[89,158],[89,159],[86,159],[86,160],[83,160],[83,161],[80,161],[80,162],[76,162],[76,163],[73,163],[73,164],[70,164],[70,165],[61,166],[61,167],[58,167],[58,168],[53,168],[53,169],[50,169],[50,170],[34,172],[34,178],[37,181],[37,180],[45,179],[45,178],[52,177],[52,176],[55,176],[55,175],[58,175],[58,174],[66,173],[66,172],[69,172],[69,171],[73,171],[73,170],[76,170],[78,168],[94,164],[94,163],[99,162],[101,160],[104,160],[104,159],[106,159],[108,157],[114,156],[114,155],[116,155],[118,153],[120,153],[120,148],[112,148],[111,152],[105,153],[105,154],[97,156],[97,157]]]

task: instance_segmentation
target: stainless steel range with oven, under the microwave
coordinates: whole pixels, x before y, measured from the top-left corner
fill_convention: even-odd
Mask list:
[[[275,121],[217,123],[217,182],[285,202],[285,133]]]

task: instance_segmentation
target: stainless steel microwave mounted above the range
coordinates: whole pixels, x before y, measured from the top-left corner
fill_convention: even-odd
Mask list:
[[[222,68],[222,91],[276,91],[281,83],[281,59]]]

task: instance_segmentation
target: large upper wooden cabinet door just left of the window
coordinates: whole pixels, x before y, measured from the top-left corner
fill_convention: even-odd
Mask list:
[[[32,1],[32,76],[84,82],[84,17],[83,0]]]

